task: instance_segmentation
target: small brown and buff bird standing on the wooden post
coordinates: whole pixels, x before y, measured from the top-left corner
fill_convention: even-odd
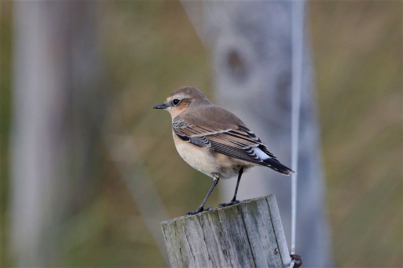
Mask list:
[[[289,175],[294,172],[280,163],[267,146],[231,112],[212,104],[197,88],[180,87],[154,109],[167,110],[172,117],[172,135],[176,150],[190,166],[213,178],[213,185],[194,215],[209,209],[204,205],[220,178],[238,175],[236,200],[242,172],[252,166],[267,166]]]

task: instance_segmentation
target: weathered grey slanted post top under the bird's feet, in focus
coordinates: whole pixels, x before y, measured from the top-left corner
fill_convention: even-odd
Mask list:
[[[288,267],[274,195],[161,223],[172,267]]]

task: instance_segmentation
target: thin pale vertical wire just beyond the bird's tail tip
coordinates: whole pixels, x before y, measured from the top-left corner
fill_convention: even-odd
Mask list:
[[[291,168],[298,168],[299,119],[302,87],[302,52],[304,1],[292,2],[292,108],[291,108]],[[291,254],[295,254],[297,221],[297,173],[291,175]],[[293,265],[293,262],[292,262]],[[293,265],[294,266],[294,265]]]

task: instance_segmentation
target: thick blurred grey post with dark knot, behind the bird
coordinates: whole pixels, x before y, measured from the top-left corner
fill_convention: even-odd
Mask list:
[[[200,38],[212,49],[219,104],[238,115],[291,166],[292,2],[183,4]],[[306,267],[328,266],[332,265],[330,235],[307,36],[304,44],[296,253]],[[222,201],[227,202],[235,180],[220,184]],[[271,193],[278,199],[290,246],[291,177],[267,168],[253,168],[243,176],[239,199]]]

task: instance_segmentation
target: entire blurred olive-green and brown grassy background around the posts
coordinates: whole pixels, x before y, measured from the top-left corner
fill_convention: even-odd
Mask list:
[[[209,51],[177,1],[99,6],[113,110],[122,116],[169,215],[182,215],[199,205],[211,182],[183,162],[171,140],[169,115],[156,115],[151,107],[182,85],[214,100]],[[0,263],[13,266],[13,3],[1,7]],[[335,265],[402,266],[402,2],[314,1],[308,16]],[[112,115],[105,117],[105,125],[113,122]],[[93,146],[89,189],[55,230],[59,266],[165,266],[104,142],[96,136]],[[219,203],[217,195],[209,203]]]

